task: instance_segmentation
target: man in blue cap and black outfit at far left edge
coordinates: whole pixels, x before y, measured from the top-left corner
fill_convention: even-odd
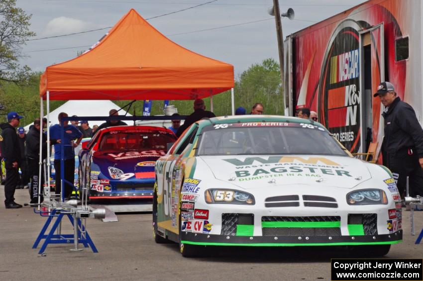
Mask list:
[[[21,163],[20,148],[16,127],[19,126],[20,119],[17,112],[12,111],[7,114],[7,123],[0,124],[2,130],[1,152],[3,153],[4,166],[6,169],[6,182],[4,184],[4,205],[6,209],[21,208],[22,205],[14,201],[16,185],[19,182],[19,165]]]

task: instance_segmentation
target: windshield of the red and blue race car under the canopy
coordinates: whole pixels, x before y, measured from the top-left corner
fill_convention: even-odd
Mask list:
[[[99,151],[109,150],[166,150],[166,144],[176,137],[165,131],[111,131],[102,136]]]

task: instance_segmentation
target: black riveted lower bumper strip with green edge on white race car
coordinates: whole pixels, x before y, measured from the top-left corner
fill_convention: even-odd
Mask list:
[[[215,246],[342,246],[396,244],[403,239],[403,230],[391,234],[364,236],[230,236],[182,232],[181,242]]]

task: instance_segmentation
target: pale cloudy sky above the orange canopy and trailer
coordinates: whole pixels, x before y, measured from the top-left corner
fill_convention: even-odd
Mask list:
[[[77,56],[95,44],[125,13],[134,8],[165,36],[196,53],[230,63],[235,77],[252,64],[278,58],[273,0],[16,0],[32,14],[31,39],[21,64],[34,71]],[[282,19],[284,37],[364,2],[363,0],[279,0],[281,11],[295,10],[295,19]],[[182,9],[184,11],[172,13]],[[160,16],[171,13],[169,15]],[[156,17],[159,16],[159,17]],[[155,18],[153,18],[155,17]]]

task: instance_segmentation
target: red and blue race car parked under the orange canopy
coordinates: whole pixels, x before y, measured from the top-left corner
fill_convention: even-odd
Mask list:
[[[98,131],[79,152],[79,184],[89,188],[91,202],[151,200],[156,160],[173,132],[153,126],[115,126]]]

